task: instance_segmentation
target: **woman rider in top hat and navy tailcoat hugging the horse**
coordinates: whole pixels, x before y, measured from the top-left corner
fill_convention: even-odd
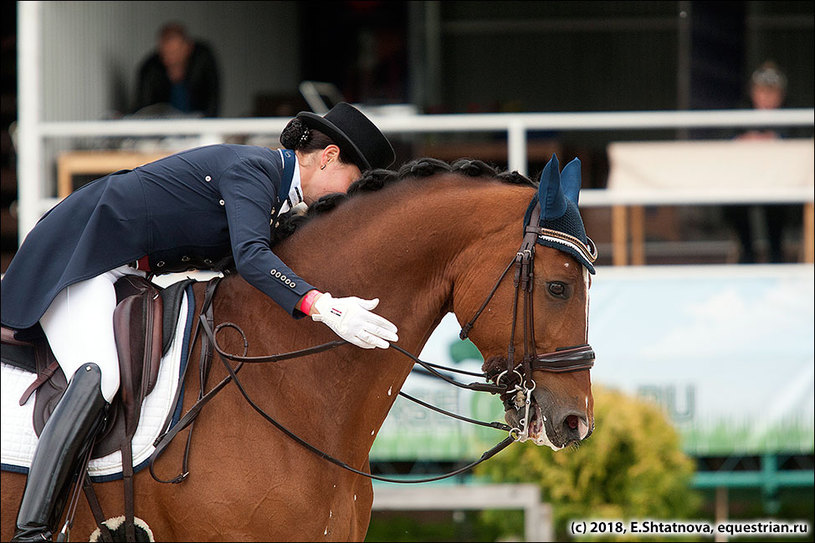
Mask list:
[[[291,207],[345,192],[363,170],[395,158],[379,129],[341,103],[301,112],[284,149],[210,145],[97,179],[51,209],[2,280],[2,324],[44,333],[68,388],[42,430],[14,540],[50,540],[70,479],[119,388],[113,337],[115,281],[212,269],[232,255],[238,273],[292,317],[310,315],[359,347],[387,348],[396,327],[378,300],[333,298],[275,256],[270,223]],[[308,270],[298,270],[307,275]]]

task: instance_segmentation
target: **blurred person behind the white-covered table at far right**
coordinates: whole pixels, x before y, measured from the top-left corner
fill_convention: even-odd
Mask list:
[[[787,77],[784,72],[772,61],[767,61],[753,72],[750,77],[748,94],[750,104],[754,109],[778,109],[784,104],[787,92]],[[783,131],[772,129],[749,130],[736,136],[742,140],[772,140],[786,137]],[[725,208],[727,218],[736,230],[739,237],[741,252],[739,262],[757,262],[754,248],[754,232],[751,222],[751,209],[757,208],[763,214],[767,226],[767,241],[769,262],[784,262],[783,233],[784,226],[792,222],[796,214],[800,214],[800,206],[793,205],[763,205],[746,206],[732,205]]]

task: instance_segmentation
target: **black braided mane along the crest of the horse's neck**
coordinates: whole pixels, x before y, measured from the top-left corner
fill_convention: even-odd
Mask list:
[[[516,171],[499,172],[481,160],[461,158],[452,164],[436,158],[419,158],[402,165],[399,170],[375,169],[366,171],[354,181],[347,193],[323,196],[308,208],[306,213],[288,212],[280,216],[277,227],[272,229],[271,244],[274,246],[291,236],[297,228],[316,215],[327,213],[356,194],[375,192],[386,185],[404,179],[419,179],[438,173],[459,173],[474,178],[498,179],[513,185],[537,187],[537,183]]]

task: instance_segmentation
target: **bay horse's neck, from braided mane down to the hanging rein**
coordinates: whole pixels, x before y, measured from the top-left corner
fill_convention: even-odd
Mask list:
[[[276,252],[299,275],[334,296],[378,297],[375,311],[398,326],[398,344],[418,354],[452,308],[454,284],[500,253],[494,238],[509,228],[501,220],[508,223],[512,215],[513,232],[519,230],[531,193],[471,179],[402,183],[382,194],[355,196],[312,219]],[[487,271],[497,278],[497,268]],[[237,290],[240,300],[257,298],[248,285]],[[324,326],[292,321],[270,301],[263,303],[254,318],[270,324],[254,331],[260,350],[255,355],[336,339]],[[323,413],[323,419],[311,423],[319,430],[316,439],[341,443],[337,446],[344,452],[365,459],[412,365],[395,349],[343,346],[288,363],[274,375],[257,372],[256,379],[281,389],[275,394],[281,403],[302,403],[302,388],[311,387],[315,394],[309,401]]]

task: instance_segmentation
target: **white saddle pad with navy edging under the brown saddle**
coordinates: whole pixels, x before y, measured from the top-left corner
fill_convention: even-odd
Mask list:
[[[161,359],[158,380],[153,391],[142,403],[141,419],[133,437],[133,467],[139,470],[155,450],[153,441],[162,431],[161,425],[175,406],[171,405],[178,388],[178,376],[186,363],[187,343],[192,319],[189,315],[189,296],[184,293],[176,324],[175,337],[170,349]],[[26,388],[36,376],[27,371],[2,364],[2,409],[0,409],[0,433],[2,434],[2,469],[28,473],[34,449],[39,438],[34,432],[34,395],[24,405],[19,401]],[[175,418],[178,418],[176,414]],[[94,481],[106,481],[121,477],[122,453],[113,452],[105,457],[91,460],[88,471]]]

